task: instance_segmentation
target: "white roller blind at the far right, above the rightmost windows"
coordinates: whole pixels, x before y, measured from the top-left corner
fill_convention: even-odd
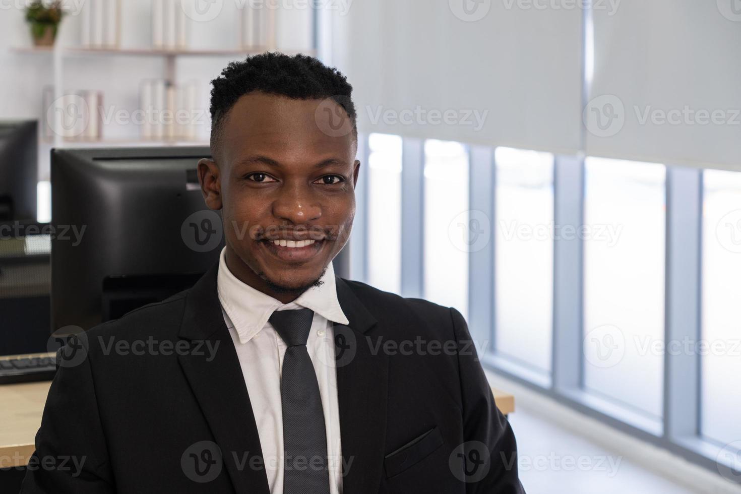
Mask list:
[[[586,153],[741,167],[737,0],[623,0],[595,10]]]

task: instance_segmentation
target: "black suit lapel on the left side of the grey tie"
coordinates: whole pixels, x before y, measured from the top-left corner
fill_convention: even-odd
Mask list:
[[[181,354],[179,361],[222,451],[234,490],[270,494],[265,470],[250,467],[250,458],[255,456],[263,464],[262,449],[242,367],[222,316],[217,273],[218,264],[187,294],[179,336],[190,341],[191,349],[201,351]],[[204,351],[207,348],[216,351],[211,355]],[[246,461],[245,453],[249,455]]]

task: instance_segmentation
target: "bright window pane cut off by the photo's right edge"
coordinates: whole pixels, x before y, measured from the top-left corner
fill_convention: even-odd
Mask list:
[[[741,173],[705,170],[703,183],[700,431],[726,444],[741,438]]]

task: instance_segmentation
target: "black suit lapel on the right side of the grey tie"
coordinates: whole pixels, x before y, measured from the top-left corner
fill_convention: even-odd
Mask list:
[[[383,473],[386,435],[388,358],[376,338],[365,333],[376,319],[336,278],[337,298],[349,324],[334,324],[342,487],[345,493],[369,492]]]

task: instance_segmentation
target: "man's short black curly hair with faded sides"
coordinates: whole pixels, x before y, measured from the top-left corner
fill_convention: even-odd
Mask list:
[[[247,56],[245,60],[230,62],[211,84],[212,153],[221,140],[229,110],[240,97],[253,91],[290,99],[331,98],[348,113],[353,135],[357,137],[357,114],[350,99],[353,87],[339,70],[312,56],[272,52]]]

